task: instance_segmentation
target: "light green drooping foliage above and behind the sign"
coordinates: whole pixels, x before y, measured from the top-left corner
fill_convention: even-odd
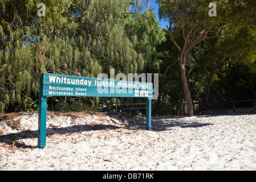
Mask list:
[[[37,15],[38,3],[46,5],[45,17]],[[43,72],[144,72],[162,36],[155,14],[139,1],[136,13],[128,0],[1,0],[0,6],[1,110],[26,110],[38,100]]]

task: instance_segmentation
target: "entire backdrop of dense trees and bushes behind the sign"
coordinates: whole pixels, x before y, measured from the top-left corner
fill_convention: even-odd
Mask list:
[[[156,114],[192,116],[225,101],[256,99],[256,2],[0,0],[0,112],[38,109],[41,73],[97,77],[159,73]],[[38,16],[38,4],[46,15]],[[108,110],[132,98],[51,97],[48,110]]]

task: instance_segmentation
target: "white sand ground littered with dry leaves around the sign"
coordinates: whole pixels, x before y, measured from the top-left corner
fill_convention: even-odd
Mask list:
[[[37,113],[0,115],[0,169],[256,169],[253,111],[155,117],[153,131],[144,128],[145,118],[128,115],[48,113],[47,146],[39,149]]]

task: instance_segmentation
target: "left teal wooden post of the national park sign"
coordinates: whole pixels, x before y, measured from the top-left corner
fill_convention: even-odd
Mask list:
[[[38,147],[46,146],[46,114],[47,114],[47,96],[43,96],[43,76],[40,76],[39,88],[39,114],[38,114]]]

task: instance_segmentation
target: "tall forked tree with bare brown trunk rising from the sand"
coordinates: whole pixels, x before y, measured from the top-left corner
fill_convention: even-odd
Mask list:
[[[193,116],[193,104],[186,78],[186,56],[202,40],[220,37],[232,31],[232,27],[255,17],[254,1],[227,1],[217,3],[217,17],[209,16],[211,1],[157,0],[161,18],[169,22],[169,36],[179,53],[181,81],[188,104],[188,116]],[[248,15],[250,14],[250,15]],[[178,44],[176,35],[181,34],[183,41]]]

